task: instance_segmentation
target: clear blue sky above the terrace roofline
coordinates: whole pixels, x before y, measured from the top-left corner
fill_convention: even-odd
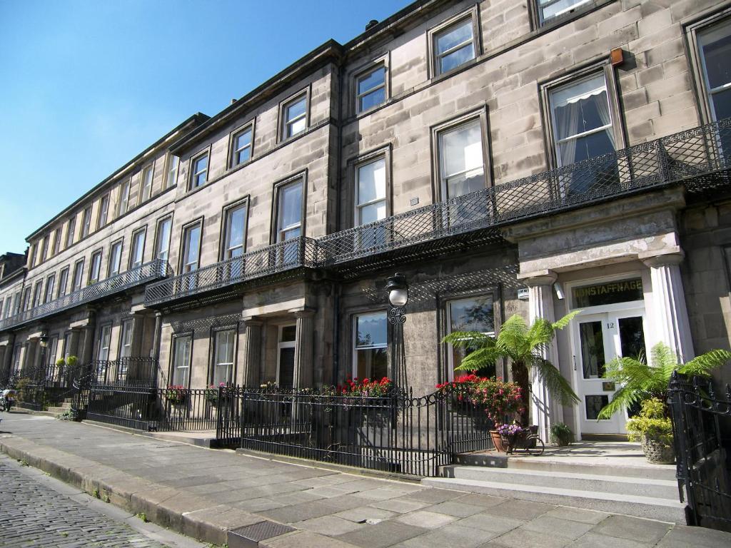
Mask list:
[[[0,0],[0,254],[196,112],[410,0]]]

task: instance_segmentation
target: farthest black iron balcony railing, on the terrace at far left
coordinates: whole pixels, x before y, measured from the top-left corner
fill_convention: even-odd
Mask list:
[[[144,265],[131,268],[124,273],[111,276],[106,280],[91,283],[91,285],[77,289],[75,292],[58,297],[56,300],[20,312],[15,314],[15,316],[10,316],[10,318],[0,322],[0,331],[10,329],[11,327],[18,327],[29,321],[42,319],[46,316],[66,311],[69,308],[75,308],[88,302],[109,297],[110,295],[123,292],[126,289],[131,289],[148,281],[164,278],[168,275],[168,270],[167,261],[155,259],[154,261],[146,262]]]

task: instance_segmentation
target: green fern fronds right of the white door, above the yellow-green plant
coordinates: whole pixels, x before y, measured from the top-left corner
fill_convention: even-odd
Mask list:
[[[614,393],[612,401],[599,411],[599,419],[609,419],[620,409],[638,406],[651,397],[656,397],[663,403],[667,402],[667,387],[675,370],[689,377],[708,378],[712,370],[731,359],[731,352],[727,350],[711,350],[681,364],[664,343],[657,343],[652,348],[651,355],[652,365],[646,363],[641,355],[636,358],[616,358],[605,365],[605,378],[615,381],[620,387]],[[667,403],[665,406],[667,416]]]

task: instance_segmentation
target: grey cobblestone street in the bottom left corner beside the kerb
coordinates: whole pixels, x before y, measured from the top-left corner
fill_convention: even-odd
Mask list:
[[[52,482],[58,487],[51,487]],[[117,514],[124,518],[129,514],[111,505],[105,505],[109,509],[102,514],[92,506],[103,502],[91,501],[88,495],[4,456],[0,457],[0,492],[0,547],[3,548],[205,546],[128,517],[140,523],[137,529],[132,528],[121,519],[105,515]],[[170,541],[163,544],[154,540],[155,536],[170,537]]]

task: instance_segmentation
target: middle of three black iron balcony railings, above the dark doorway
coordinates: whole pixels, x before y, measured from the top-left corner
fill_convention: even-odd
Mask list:
[[[178,300],[295,268],[317,267],[320,262],[316,241],[296,237],[151,283],[145,288],[145,305]]]

